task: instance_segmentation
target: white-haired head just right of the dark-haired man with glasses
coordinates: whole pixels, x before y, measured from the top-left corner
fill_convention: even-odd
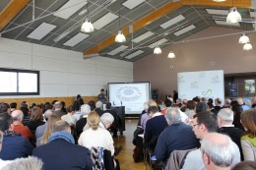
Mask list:
[[[218,113],[218,125],[222,127],[224,125],[232,125],[233,123],[233,111],[228,108],[221,109]]]

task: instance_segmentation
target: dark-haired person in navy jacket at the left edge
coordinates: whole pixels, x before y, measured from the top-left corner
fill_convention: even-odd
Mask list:
[[[4,133],[0,158],[14,160],[20,157],[28,157],[32,154],[32,144],[20,134],[12,131],[12,117],[7,113],[0,114],[0,131]]]

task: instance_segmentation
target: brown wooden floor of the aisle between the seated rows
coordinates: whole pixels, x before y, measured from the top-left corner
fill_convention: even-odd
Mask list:
[[[133,140],[133,133],[136,130],[138,120],[126,120],[125,121],[125,128],[126,131],[123,132],[123,136],[119,136],[118,138],[114,139],[115,146],[122,145],[123,148],[120,153],[115,156],[120,162],[121,170],[150,170],[150,166],[144,164],[144,162],[135,163],[133,161],[133,149],[134,145],[132,143]]]

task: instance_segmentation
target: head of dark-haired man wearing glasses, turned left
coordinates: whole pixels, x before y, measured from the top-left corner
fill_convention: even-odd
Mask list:
[[[216,115],[210,111],[199,112],[193,116],[192,126],[197,139],[202,140],[206,134],[217,131]]]

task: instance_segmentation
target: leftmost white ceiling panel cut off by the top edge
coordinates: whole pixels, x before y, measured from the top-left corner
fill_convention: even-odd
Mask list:
[[[64,4],[58,11],[56,11],[53,16],[68,19],[70,16],[79,11],[82,7],[87,4],[86,0],[69,0]]]

